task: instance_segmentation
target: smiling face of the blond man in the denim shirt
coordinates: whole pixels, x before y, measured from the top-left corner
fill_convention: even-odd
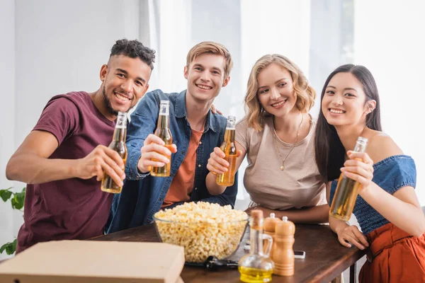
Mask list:
[[[186,98],[200,103],[212,103],[230,79],[225,78],[225,58],[210,53],[200,54],[184,67],[184,77],[188,80]]]

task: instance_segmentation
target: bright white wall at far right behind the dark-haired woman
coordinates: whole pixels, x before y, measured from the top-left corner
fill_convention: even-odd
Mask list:
[[[355,63],[370,69],[378,84],[384,132],[415,160],[416,195],[422,206],[425,205],[424,11],[425,1],[419,0],[358,0],[354,11]]]

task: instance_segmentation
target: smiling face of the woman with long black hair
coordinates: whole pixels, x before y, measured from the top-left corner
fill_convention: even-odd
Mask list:
[[[365,124],[365,117],[375,107],[374,100],[365,103],[363,85],[351,73],[335,74],[322,99],[322,112],[330,125]]]

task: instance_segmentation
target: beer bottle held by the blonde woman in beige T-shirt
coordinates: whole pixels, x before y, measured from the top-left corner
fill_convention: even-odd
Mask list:
[[[217,184],[229,187],[234,183],[234,168],[236,167],[237,149],[234,145],[234,124],[236,117],[227,117],[227,127],[225,132],[225,140],[222,142],[220,149],[226,154],[226,161],[229,162],[227,172],[217,175]]]

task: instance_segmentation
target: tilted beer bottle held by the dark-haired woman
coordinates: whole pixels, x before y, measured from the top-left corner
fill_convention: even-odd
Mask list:
[[[367,144],[368,139],[358,137],[354,151],[365,152]],[[334,216],[337,219],[348,221],[351,217],[351,213],[353,212],[354,205],[356,204],[358,189],[360,189],[360,187],[360,183],[347,178],[344,173],[341,173],[329,215]]]

